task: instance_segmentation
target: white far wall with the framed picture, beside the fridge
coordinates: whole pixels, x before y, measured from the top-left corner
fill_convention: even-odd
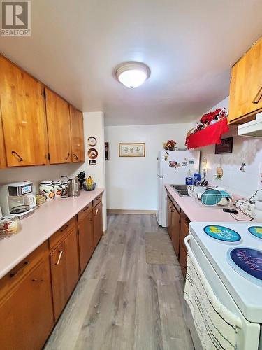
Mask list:
[[[105,161],[108,209],[157,209],[157,152],[168,139],[184,148],[189,124],[124,125],[105,127],[110,160]],[[118,156],[121,142],[145,142],[145,158]]]

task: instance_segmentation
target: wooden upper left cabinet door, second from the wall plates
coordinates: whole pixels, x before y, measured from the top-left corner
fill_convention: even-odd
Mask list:
[[[45,106],[50,163],[71,162],[71,124],[68,103],[45,87]]]

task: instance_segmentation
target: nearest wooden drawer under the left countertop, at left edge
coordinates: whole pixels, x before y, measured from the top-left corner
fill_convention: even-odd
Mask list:
[[[0,279],[0,300],[10,290],[20,282],[28,272],[33,269],[36,264],[48,254],[48,241],[45,241],[41,246],[38,246],[33,253],[24,258],[17,266],[11,269],[6,276]]]

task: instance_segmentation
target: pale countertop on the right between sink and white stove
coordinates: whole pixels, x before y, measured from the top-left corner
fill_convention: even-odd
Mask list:
[[[175,202],[180,206],[182,211],[184,211],[184,214],[187,215],[190,221],[198,221],[198,222],[205,222],[205,221],[214,221],[214,222],[234,222],[238,223],[229,213],[225,213],[223,209],[221,208],[208,208],[204,206],[200,206],[198,203],[196,203],[191,197],[184,196],[180,197],[174,190],[174,188],[170,185],[165,185],[166,190],[170,193],[170,195],[173,197]],[[237,209],[238,210],[238,209]],[[248,217],[244,214],[241,214],[240,211],[238,211],[239,214],[237,214],[236,218],[247,220]]]

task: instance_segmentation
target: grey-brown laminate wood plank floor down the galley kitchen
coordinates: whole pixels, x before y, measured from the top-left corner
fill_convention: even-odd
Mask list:
[[[108,230],[45,350],[194,349],[178,262],[148,265],[145,232],[167,234],[153,215],[108,216]]]

